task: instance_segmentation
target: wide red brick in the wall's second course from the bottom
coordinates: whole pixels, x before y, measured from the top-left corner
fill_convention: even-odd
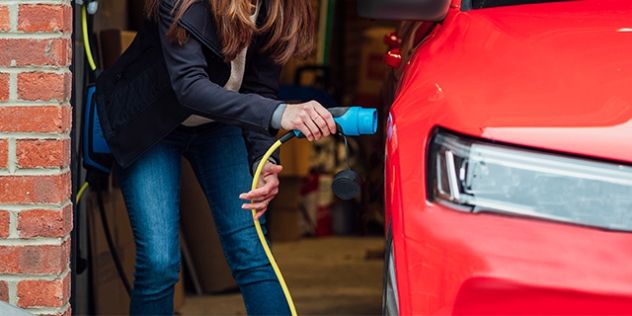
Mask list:
[[[70,242],[61,245],[0,246],[0,274],[59,274],[68,268]]]

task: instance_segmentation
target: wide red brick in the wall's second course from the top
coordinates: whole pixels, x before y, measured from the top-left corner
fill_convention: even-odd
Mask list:
[[[0,66],[10,66],[14,60],[16,66],[68,66],[69,48],[70,40],[64,38],[0,39]]]

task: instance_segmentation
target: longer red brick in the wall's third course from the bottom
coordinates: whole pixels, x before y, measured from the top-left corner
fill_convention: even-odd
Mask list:
[[[28,210],[18,215],[20,238],[64,237],[71,229],[71,205],[62,210]]]

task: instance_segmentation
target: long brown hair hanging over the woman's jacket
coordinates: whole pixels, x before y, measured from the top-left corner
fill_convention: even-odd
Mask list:
[[[146,0],[147,17],[156,18],[162,0]],[[254,5],[251,0],[177,0],[173,23],[167,39],[180,45],[187,41],[186,31],[178,20],[195,2],[209,1],[217,22],[225,61],[235,59],[237,54],[250,45],[253,35],[267,34],[267,44],[262,51],[270,51],[272,59],[283,64],[293,56],[306,57],[314,42],[314,17],[310,0],[258,0],[267,1],[267,21],[257,27],[250,21]]]

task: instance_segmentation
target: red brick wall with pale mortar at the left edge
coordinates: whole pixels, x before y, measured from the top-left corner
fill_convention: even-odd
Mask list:
[[[70,315],[70,0],[0,1],[0,301]]]

